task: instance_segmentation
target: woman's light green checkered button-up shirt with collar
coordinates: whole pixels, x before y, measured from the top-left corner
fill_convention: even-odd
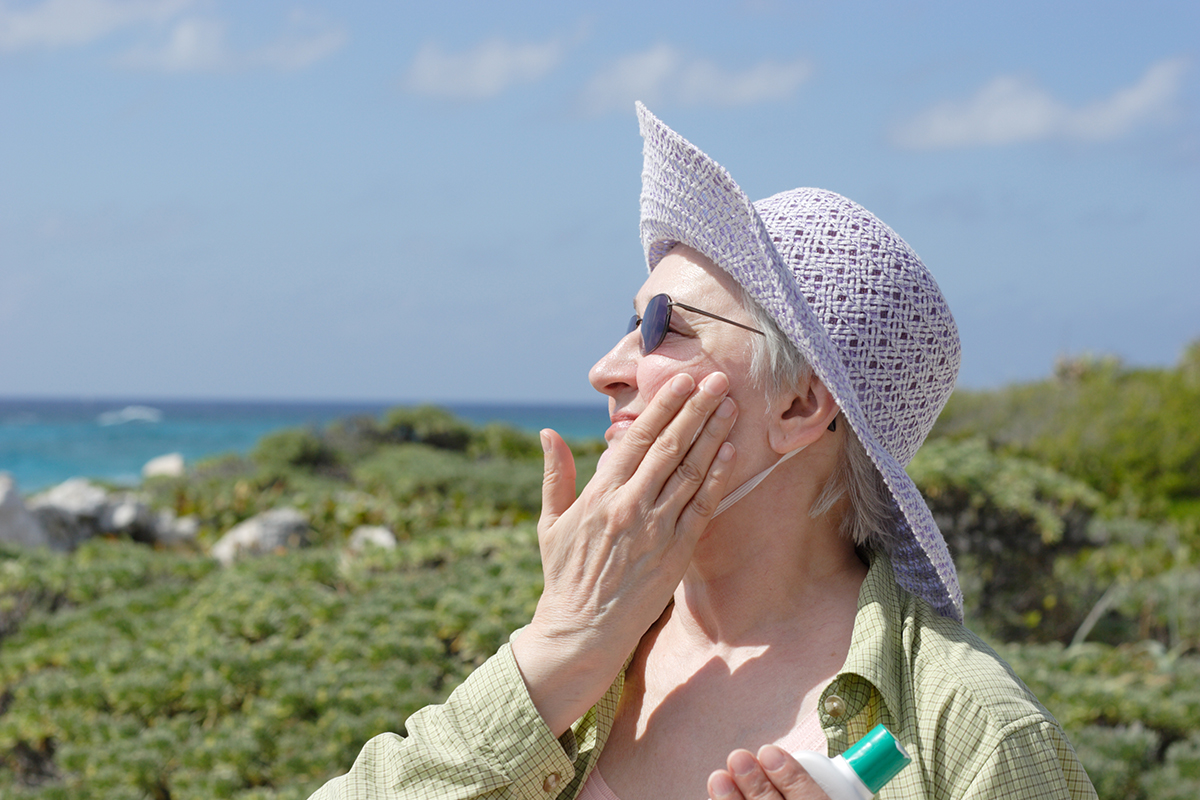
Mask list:
[[[574,798],[622,686],[556,739],[505,645],[445,704],[414,714],[407,738],[376,736],[313,798]],[[900,589],[887,558],[863,582],[850,655],[818,708],[830,756],[880,722],[912,754],[883,800],[1096,798],[1050,712],[977,636]]]

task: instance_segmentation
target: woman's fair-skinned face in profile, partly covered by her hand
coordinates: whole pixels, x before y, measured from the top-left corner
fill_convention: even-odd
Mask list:
[[[733,278],[690,247],[679,245],[659,261],[634,299],[636,313],[642,315],[646,303],[658,294],[754,326]],[[642,355],[640,331],[622,338],[588,374],[596,391],[608,396],[612,420],[605,434],[608,446],[620,441],[637,415],[671,378],[686,372],[698,384],[706,375],[720,371],[728,377],[730,397],[738,404],[738,422],[730,434],[738,451],[732,485],[738,485],[739,475],[754,474],[769,465],[778,455],[763,453],[768,449],[766,397],[750,378],[751,337],[755,336],[758,335],[676,307],[666,338],[649,355]]]

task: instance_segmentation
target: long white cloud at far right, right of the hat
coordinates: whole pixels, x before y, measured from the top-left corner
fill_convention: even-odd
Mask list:
[[[1027,79],[1002,76],[967,101],[946,101],[917,114],[894,131],[893,142],[912,150],[943,150],[1043,139],[1117,139],[1171,115],[1187,66],[1187,59],[1159,61],[1133,86],[1079,108]]]

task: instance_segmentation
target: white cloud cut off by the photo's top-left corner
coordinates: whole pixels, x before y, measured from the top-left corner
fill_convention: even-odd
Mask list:
[[[46,0],[11,8],[0,0],[0,50],[86,44],[122,28],[163,22],[192,0]]]

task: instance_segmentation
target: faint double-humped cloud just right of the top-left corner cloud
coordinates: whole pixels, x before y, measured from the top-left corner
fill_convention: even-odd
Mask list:
[[[235,52],[226,43],[226,24],[188,17],[179,20],[167,41],[136,47],[116,62],[155,72],[232,72],[254,67],[294,71],[338,50],[346,31],[302,14],[293,14],[283,36],[265,47]]]

